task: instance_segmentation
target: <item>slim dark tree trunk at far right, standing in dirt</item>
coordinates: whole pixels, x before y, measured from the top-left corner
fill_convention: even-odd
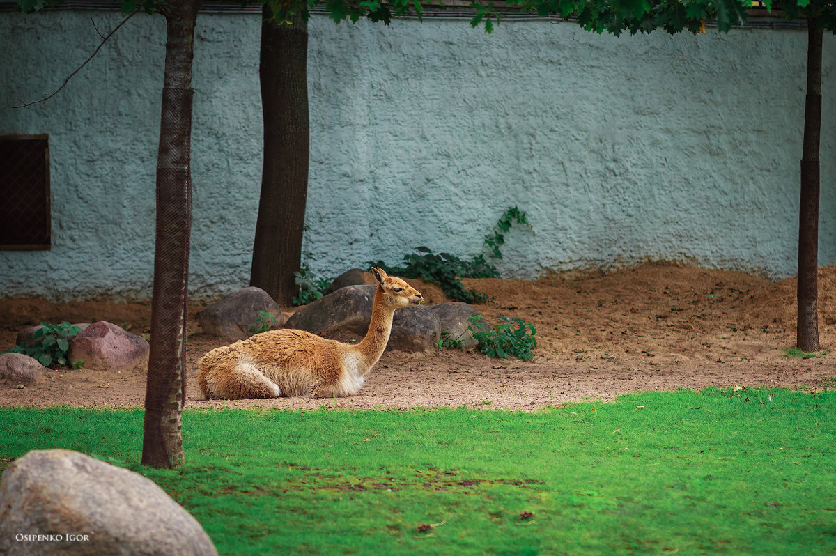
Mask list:
[[[798,334],[804,351],[818,351],[818,142],[822,128],[822,29],[808,16],[807,100],[798,214]]]

